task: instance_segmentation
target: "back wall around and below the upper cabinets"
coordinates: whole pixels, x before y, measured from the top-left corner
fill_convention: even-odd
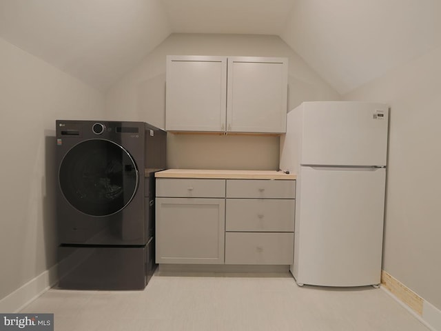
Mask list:
[[[147,121],[165,127],[167,55],[238,55],[289,58],[289,110],[302,101],[340,95],[276,36],[171,34],[106,94],[109,119]],[[278,168],[278,137],[169,134],[169,168]]]

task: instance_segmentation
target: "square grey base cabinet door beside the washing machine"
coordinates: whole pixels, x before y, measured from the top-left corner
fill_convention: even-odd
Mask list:
[[[156,263],[222,264],[225,199],[156,198]]]

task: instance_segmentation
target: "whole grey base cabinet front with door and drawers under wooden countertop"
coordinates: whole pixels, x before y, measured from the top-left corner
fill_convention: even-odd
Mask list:
[[[296,181],[156,179],[156,263],[291,265]]]

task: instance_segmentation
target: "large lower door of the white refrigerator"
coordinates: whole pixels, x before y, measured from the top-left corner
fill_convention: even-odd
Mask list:
[[[384,168],[301,167],[296,201],[298,283],[380,283]]]

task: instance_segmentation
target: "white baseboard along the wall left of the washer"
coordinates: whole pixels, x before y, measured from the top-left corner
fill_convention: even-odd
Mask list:
[[[52,288],[57,283],[57,265],[42,272],[34,279],[8,294],[0,300],[0,312],[19,312],[26,305],[37,299],[41,294]]]

